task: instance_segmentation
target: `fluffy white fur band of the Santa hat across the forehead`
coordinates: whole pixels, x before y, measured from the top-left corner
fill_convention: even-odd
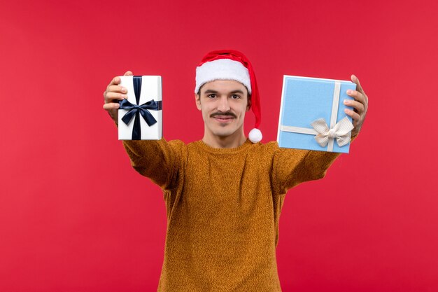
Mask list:
[[[251,94],[249,72],[241,62],[229,59],[218,59],[196,67],[195,93],[198,93],[199,88],[205,83],[215,80],[239,81],[246,86],[248,94]]]

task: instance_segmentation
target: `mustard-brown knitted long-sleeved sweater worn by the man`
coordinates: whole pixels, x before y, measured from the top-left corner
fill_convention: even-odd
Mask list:
[[[281,291],[276,266],[285,193],[320,179],[337,153],[276,142],[218,149],[202,141],[124,141],[132,166],[164,191],[167,237],[158,291]]]

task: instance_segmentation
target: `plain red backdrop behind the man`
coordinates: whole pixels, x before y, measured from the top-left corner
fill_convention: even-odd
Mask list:
[[[283,291],[438,291],[435,3],[2,0],[0,291],[156,290],[162,193],[102,93],[128,69],[162,75],[164,137],[201,139],[195,67],[220,48],[253,62],[265,142],[283,74],[356,74],[369,96],[351,154],[288,193]]]

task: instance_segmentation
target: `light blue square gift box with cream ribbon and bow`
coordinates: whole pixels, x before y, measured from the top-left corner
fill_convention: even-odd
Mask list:
[[[355,83],[284,76],[278,146],[348,153],[353,124],[344,99],[353,99],[346,94],[349,89],[355,90]]]

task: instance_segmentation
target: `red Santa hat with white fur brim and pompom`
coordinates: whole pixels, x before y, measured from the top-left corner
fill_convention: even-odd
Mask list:
[[[261,141],[262,132],[257,129],[261,120],[260,97],[253,66],[248,58],[236,50],[213,50],[208,53],[196,68],[195,93],[199,93],[199,88],[205,83],[215,80],[234,80],[245,85],[255,115],[255,127],[248,137],[253,143]]]

